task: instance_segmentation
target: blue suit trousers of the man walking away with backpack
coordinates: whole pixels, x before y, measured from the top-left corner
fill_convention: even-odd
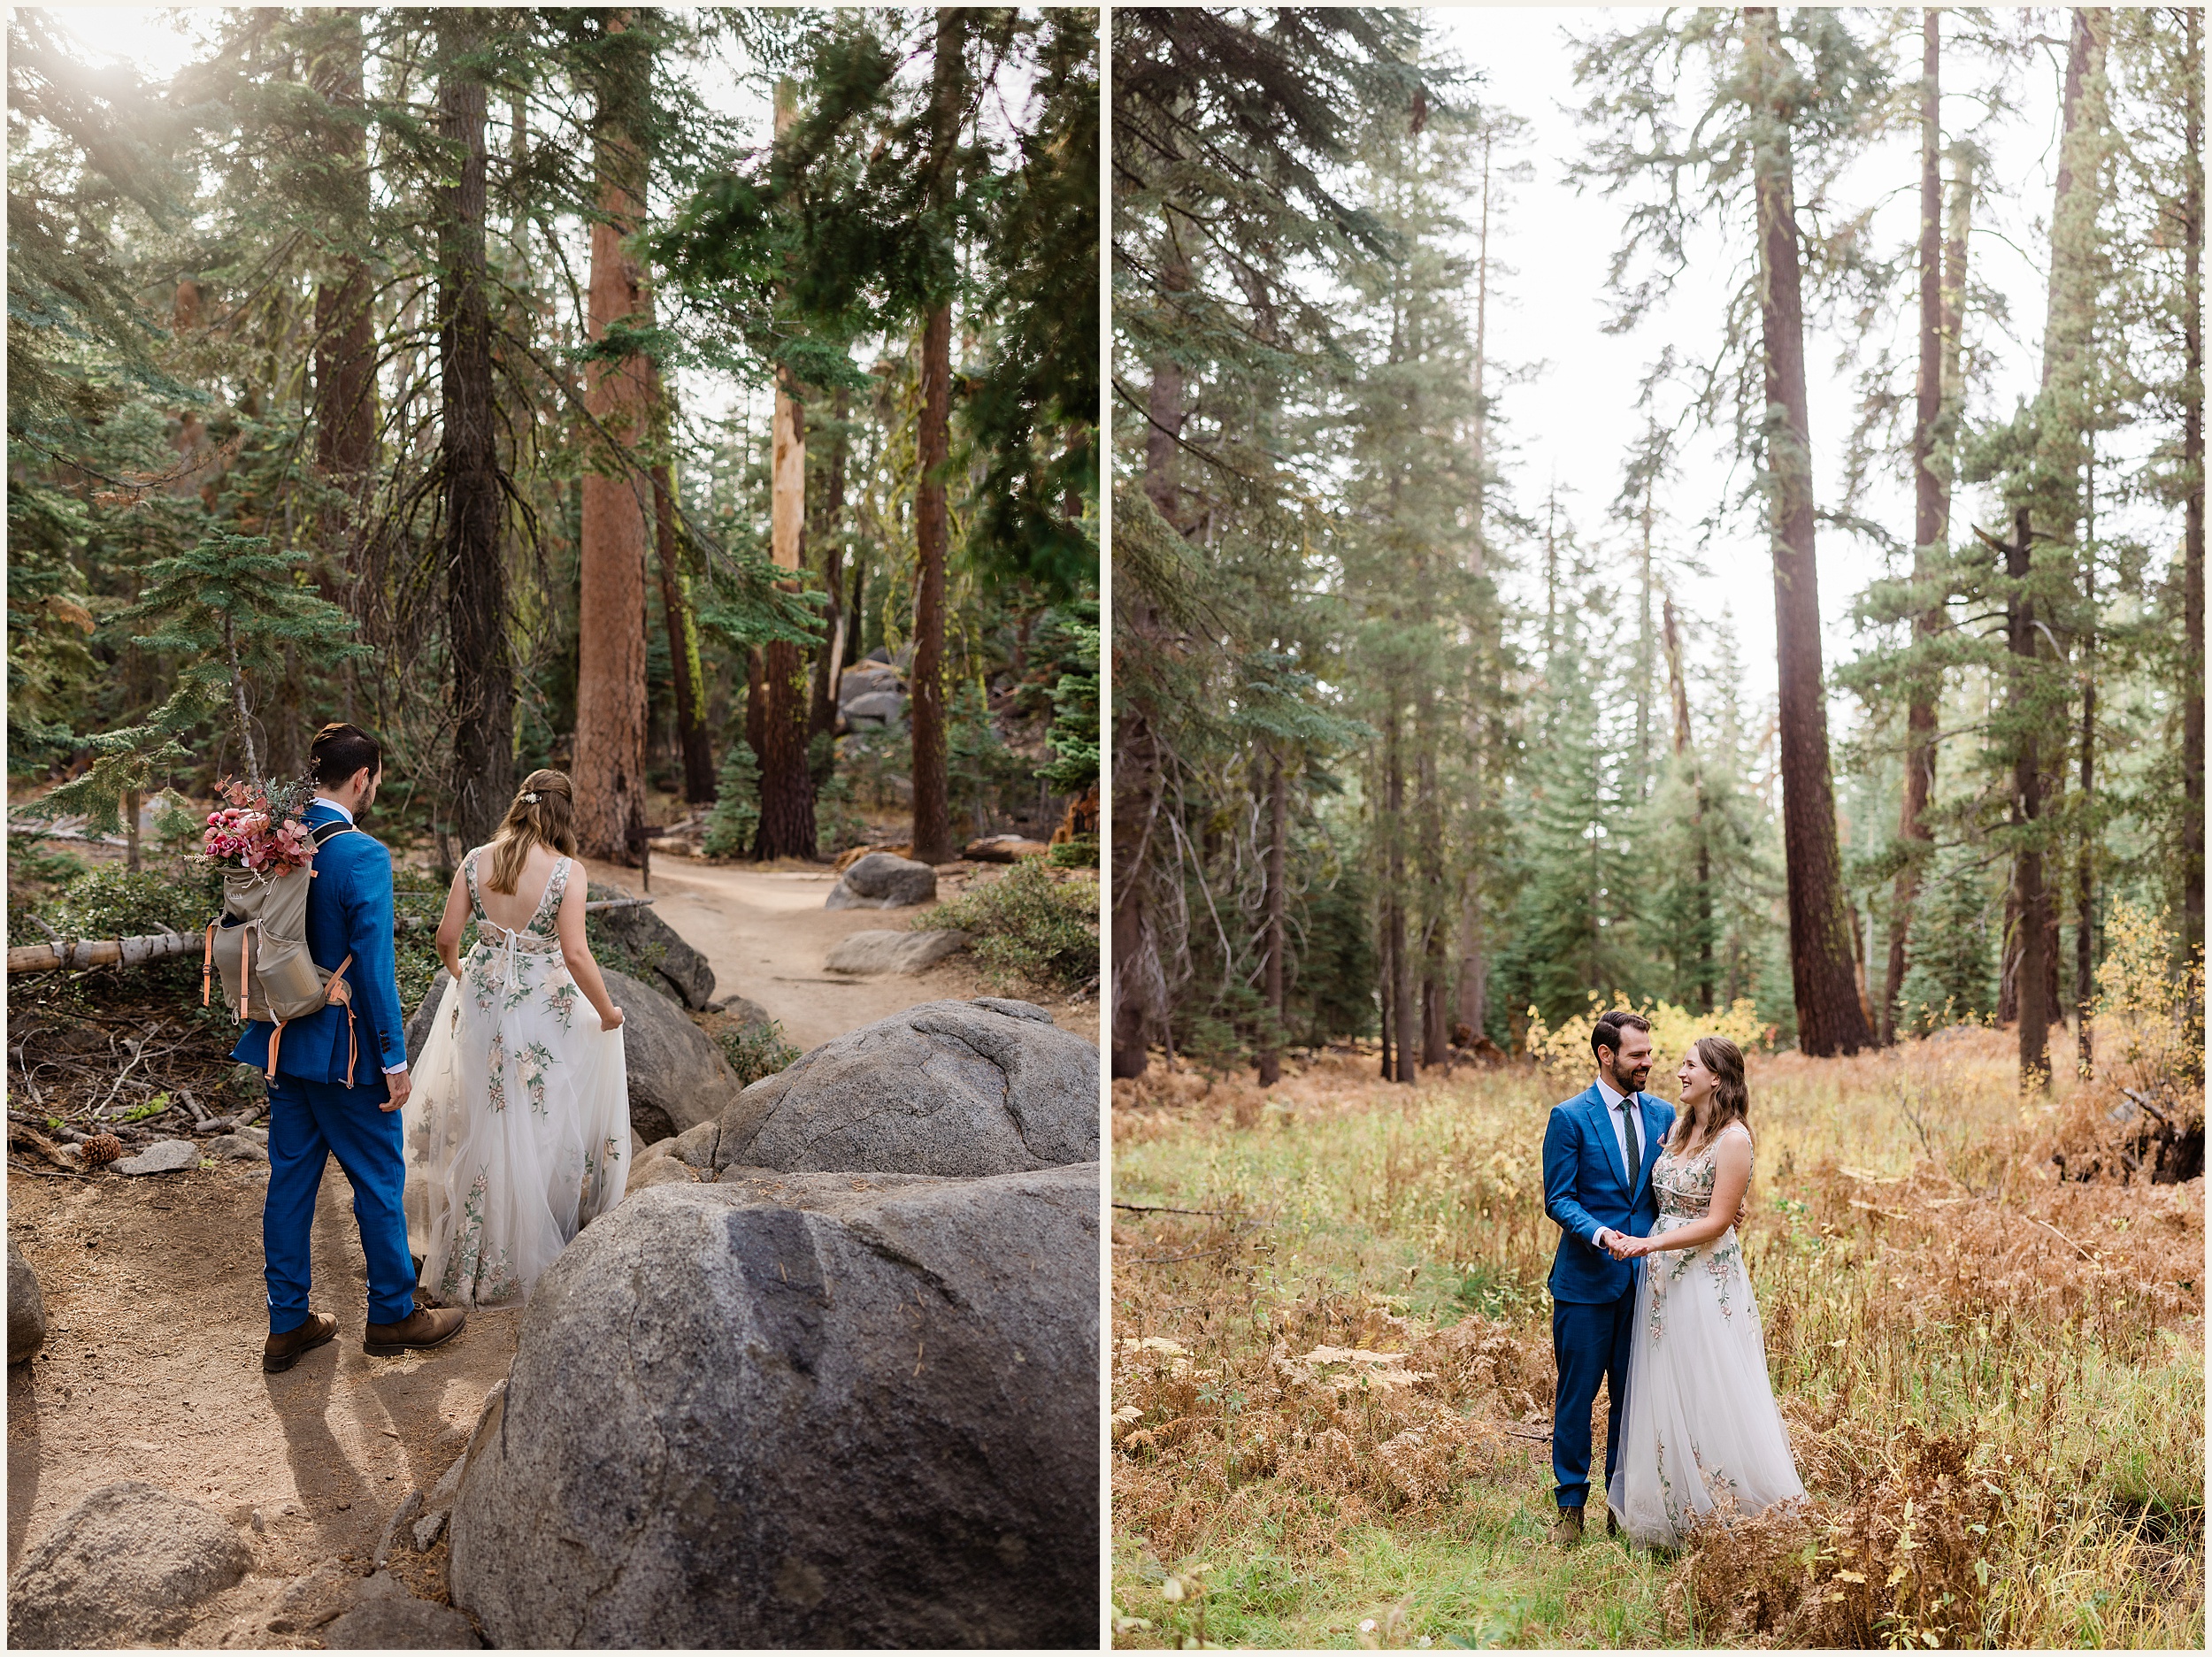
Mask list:
[[[400,1323],[414,1312],[414,1259],[400,1210],[407,1181],[400,1113],[380,1111],[367,1088],[279,1071],[270,1080],[270,1195],[261,1208],[270,1334],[307,1321],[307,1239],[330,1157],[354,1186],[354,1221],[369,1268],[369,1323]]]

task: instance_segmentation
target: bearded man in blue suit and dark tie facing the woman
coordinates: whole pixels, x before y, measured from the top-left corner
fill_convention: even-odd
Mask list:
[[[1590,1405],[1606,1383],[1606,1484],[1613,1484],[1628,1398],[1628,1336],[1637,1268],[1608,1252],[1615,1237],[1648,1237],[1659,1223],[1650,1168],[1674,1126],[1674,1106],[1644,1095],[1652,1071],[1650,1024],[1613,1011],[1590,1031],[1597,1080],[1551,1108],[1544,1126],[1544,1212],[1559,1226],[1551,1261],[1551,1354],[1559,1400],[1551,1418],[1551,1471],[1559,1487],[1557,1538],[1582,1540],[1590,1500]],[[1610,1529],[1613,1515],[1606,1513]]]

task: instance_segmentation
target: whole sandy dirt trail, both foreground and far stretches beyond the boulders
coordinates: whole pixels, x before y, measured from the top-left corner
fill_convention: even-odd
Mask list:
[[[591,874],[637,889],[635,869]],[[938,889],[949,898],[998,874],[953,865],[940,869]],[[914,918],[823,909],[832,880],[803,867],[653,865],[657,911],[706,953],[719,993],[765,1007],[801,1049],[916,1002],[993,993],[960,956],[914,976],[827,973],[823,958],[847,934]],[[1062,1029],[1097,1040],[1095,998],[1029,998]],[[484,1394],[513,1361],[522,1319],[476,1312],[447,1347],[365,1356],[361,1241],[352,1190],[332,1161],[314,1221],[314,1305],[338,1316],[338,1338],[288,1374],[263,1376],[265,1188],[261,1164],[144,1179],[9,1168],[9,1237],[38,1270],[49,1319],[44,1349],[7,1383],[9,1571],[102,1484],[135,1478],[201,1502],[239,1526],[254,1573],[204,1606],[177,1642],[186,1646],[319,1644],[285,1624],[283,1586],[332,1557],[367,1571],[407,1491],[434,1484],[467,1445]],[[394,1571],[440,1597],[445,1540],[427,1555],[398,1546]]]

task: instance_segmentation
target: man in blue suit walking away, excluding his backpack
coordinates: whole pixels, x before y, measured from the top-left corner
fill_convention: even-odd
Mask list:
[[[460,1332],[462,1312],[414,1303],[414,1261],[400,1190],[407,1179],[400,1106],[407,1102],[407,1022],[394,969],[392,854],[354,827],[376,799],[383,752],[358,726],[323,726],[310,748],[314,834],[307,887],[307,953],[338,973],[332,998],[276,1024],[254,1020],[230,1057],[268,1071],[270,1190],[261,1210],[270,1338],[261,1367],[290,1369],[338,1334],[307,1310],[307,1234],[323,1168],[338,1159],[354,1188],[354,1219],[369,1274],[363,1349],[434,1347]]]

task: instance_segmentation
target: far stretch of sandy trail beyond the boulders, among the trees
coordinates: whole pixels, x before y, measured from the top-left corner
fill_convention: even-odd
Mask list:
[[[591,878],[637,892],[637,869],[588,863]],[[949,865],[938,869],[938,896],[953,898],[969,883],[1002,869]],[[830,949],[856,931],[902,931],[916,909],[823,909],[836,876],[827,869],[752,869],[679,858],[653,861],[655,914],[684,934],[684,942],[714,969],[717,996],[743,996],[781,1020],[783,1035],[801,1051],[821,1046],[860,1024],[889,1018],[916,1002],[993,993],[962,958],[922,973],[841,978],[823,969]],[[1022,991],[1051,1011],[1060,1029],[1097,1040],[1097,1002],[1068,1002]]]

